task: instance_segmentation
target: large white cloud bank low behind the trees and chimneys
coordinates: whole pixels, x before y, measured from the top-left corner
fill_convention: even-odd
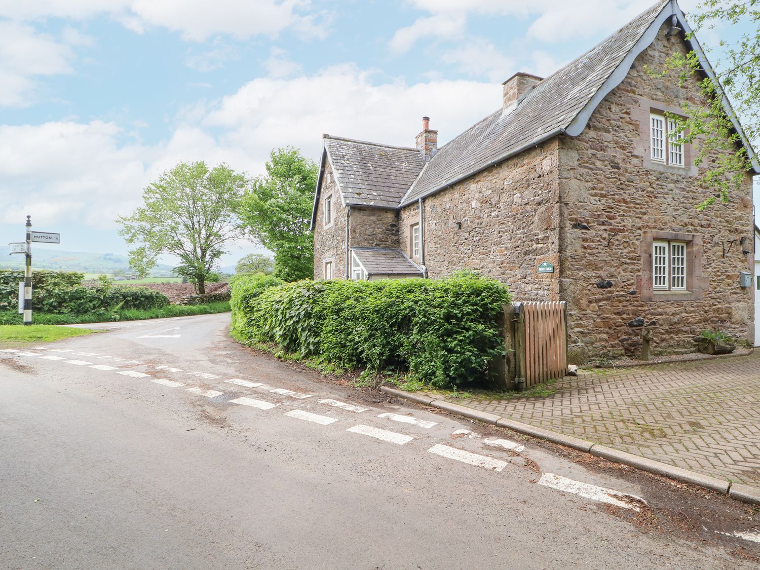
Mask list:
[[[340,65],[292,79],[255,79],[211,106],[199,103],[157,144],[128,138],[114,122],[0,125],[0,223],[33,213],[40,226],[115,230],[116,216],[139,204],[145,185],[182,160],[226,162],[255,176],[274,147],[293,145],[317,160],[325,131],[413,146],[423,115],[445,141],[500,104],[498,85],[372,78]]]

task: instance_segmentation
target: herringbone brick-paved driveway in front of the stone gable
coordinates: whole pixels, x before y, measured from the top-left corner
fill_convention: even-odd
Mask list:
[[[553,397],[457,403],[760,485],[760,350],[749,356],[580,372],[557,385]]]

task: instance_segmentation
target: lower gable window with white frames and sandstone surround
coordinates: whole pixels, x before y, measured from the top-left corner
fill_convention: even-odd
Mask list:
[[[694,233],[644,231],[641,236],[642,301],[696,301],[707,288],[702,238]]]

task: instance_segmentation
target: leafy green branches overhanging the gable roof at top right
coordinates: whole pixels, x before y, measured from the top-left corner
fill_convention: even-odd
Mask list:
[[[686,132],[674,142],[698,140],[694,163],[705,163],[707,172],[702,182],[712,191],[698,206],[705,210],[716,201],[727,201],[730,192],[740,188],[752,168],[741,135],[724,111],[724,102],[733,103],[747,138],[756,141],[760,133],[760,0],[703,0],[699,10],[690,15],[692,34],[720,25],[725,36],[731,38],[731,42],[720,40],[713,49],[703,47],[705,52],[717,52],[714,60],[717,77],[705,73],[695,51],[685,56],[672,55],[664,73],[677,71],[681,84],[696,78],[701,89],[701,101],[682,103],[686,119],[668,115]]]

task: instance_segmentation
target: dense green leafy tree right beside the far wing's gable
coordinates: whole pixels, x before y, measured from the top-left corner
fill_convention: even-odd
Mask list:
[[[274,252],[274,275],[294,281],[314,273],[309,228],[318,167],[293,147],[272,150],[267,174],[245,193],[240,215],[253,236]]]

